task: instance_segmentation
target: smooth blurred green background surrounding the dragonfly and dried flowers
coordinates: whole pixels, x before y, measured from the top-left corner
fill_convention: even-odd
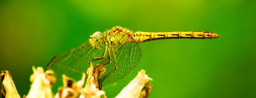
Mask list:
[[[211,31],[221,37],[139,44],[139,66],[106,95],[116,96],[144,69],[153,79],[150,98],[255,98],[255,9],[255,0],[1,0],[0,70],[27,95],[32,65],[45,67],[95,31]]]

